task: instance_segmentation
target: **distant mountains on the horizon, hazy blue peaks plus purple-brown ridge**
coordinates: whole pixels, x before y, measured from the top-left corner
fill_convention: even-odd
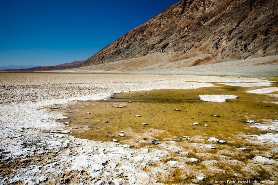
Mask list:
[[[72,69],[76,66],[80,65],[81,63],[85,62],[82,61],[74,61],[71,63],[60,64],[57,66],[1,66],[6,67],[6,69],[2,69],[0,71],[14,71],[14,72],[32,72],[32,71],[54,71],[54,70],[63,70],[63,69]],[[13,67],[13,68],[12,68]],[[10,69],[7,69],[10,68]]]

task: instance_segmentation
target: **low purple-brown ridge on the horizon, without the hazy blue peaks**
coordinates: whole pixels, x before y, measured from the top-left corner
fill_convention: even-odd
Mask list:
[[[32,72],[32,71],[53,71],[53,70],[63,70],[63,69],[73,69],[76,66],[82,64],[85,60],[82,61],[74,61],[71,63],[60,64],[56,66],[36,66],[27,69],[6,69],[0,71],[15,71],[15,72]]]

